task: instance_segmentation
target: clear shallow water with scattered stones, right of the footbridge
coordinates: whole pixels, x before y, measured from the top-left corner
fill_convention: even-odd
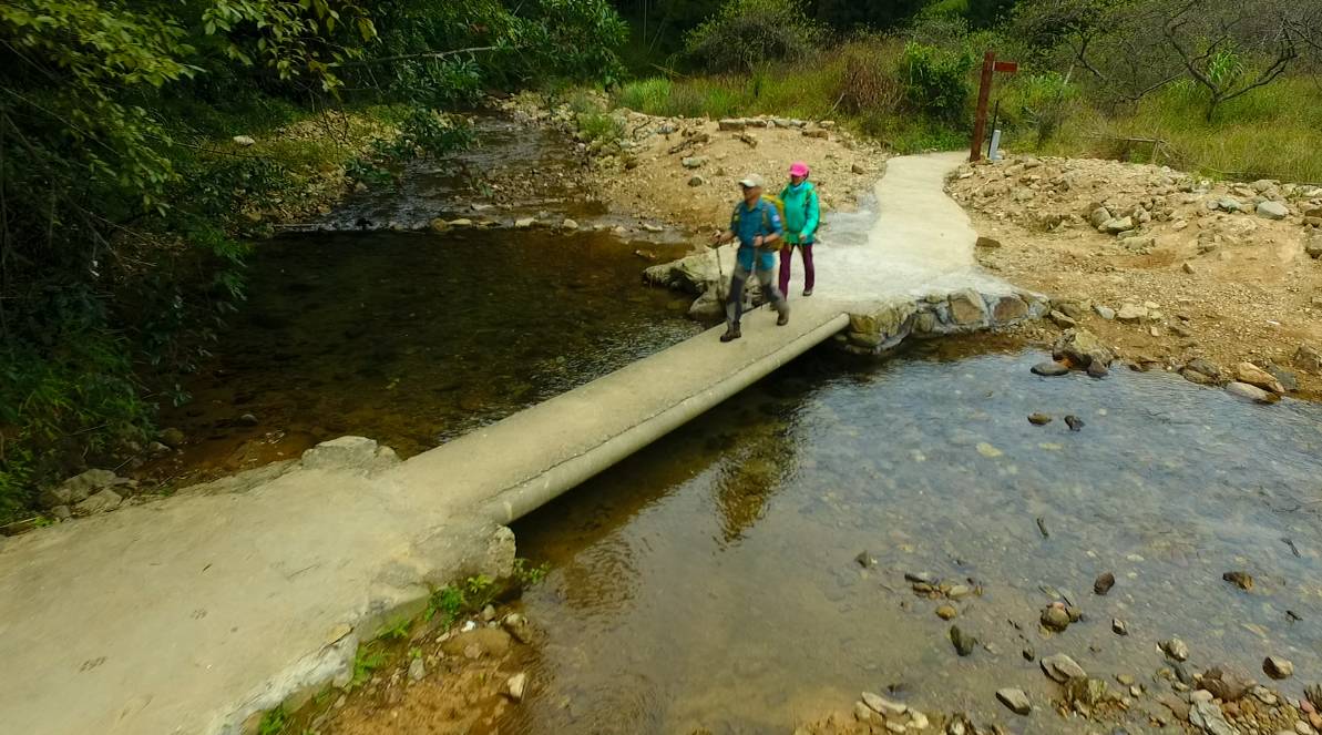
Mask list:
[[[1294,689],[1322,674],[1322,407],[1165,374],[1044,379],[1039,360],[812,353],[520,521],[520,553],[551,572],[522,601],[546,636],[510,731],[784,732],[887,687],[1006,722],[995,689],[1056,694],[1025,648],[1161,691],[1170,636],[1191,672],[1263,678],[1274,654]],[[906,571],[982,586],[954,623],[986,645],[958,658]],[[1095,596],[1104,571],[1118,582]],[[1085,619],[1048,635],[1058,595]]]

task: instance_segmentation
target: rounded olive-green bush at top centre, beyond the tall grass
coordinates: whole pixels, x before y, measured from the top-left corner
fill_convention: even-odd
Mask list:
[[[826,38],[797,0],[726,0],[685,37],[687,54],[714,71],[752,71],[808,57]]]

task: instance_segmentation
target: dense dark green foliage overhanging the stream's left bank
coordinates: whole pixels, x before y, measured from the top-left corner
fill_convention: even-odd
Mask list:
[[[186,398],[163,375],[242,299],[267,227],[246,205],[346,163],[230,136],[395,106],[401,139],[354,163],[370,171],[463,144],[434,110],[484,87],[617,81],[625,36],[605,0],[0,4],[0,520]]]

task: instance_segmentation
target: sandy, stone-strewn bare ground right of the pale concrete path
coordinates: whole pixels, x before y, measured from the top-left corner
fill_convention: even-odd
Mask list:
[[[1223,369],[1274,364],[1297,375],[1300,395],[1322,395],[1322,375],[1296,361],[1301,345],[1322,348],[1322,260],[1305,250],[1322,246],[1314,226],[1322,190],[1214,184],[1165,168],[1073,159],[965,165],[948,190],[994,241],[978,249],[984,267],[1072,301],[1080,308],[1069,316],[1081,316],[1080,325],[1121,356],[1167,369],[1198,357]],[[1244,212],[1210,208],[1228,200]],[[1285,215],[1259,213],[1260,202],[1278,204]],[[1136,231],[1099,231],[1089,217],[1101,206],[1130,217]],[[1121,321],[1093,308],[1125,304],[1147,313]],[[1058,332],[1044,323],[1036,336]]]

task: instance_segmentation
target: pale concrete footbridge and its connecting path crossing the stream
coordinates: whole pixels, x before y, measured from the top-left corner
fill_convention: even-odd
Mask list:
[[[818,295],[792,297],[787,327],[758,309],[742,340],[710,329],[407,461],[341,438],[5,539],[0,731],[255,731],[260,711],[346,682],[357,645],[434,586],[508,571],[505,523],[812,346],[878,352],[1040,315],[1040,297],[977,268],[976,234],[943,193],[958,163],[892,159],[880,213],[833,218]]]

